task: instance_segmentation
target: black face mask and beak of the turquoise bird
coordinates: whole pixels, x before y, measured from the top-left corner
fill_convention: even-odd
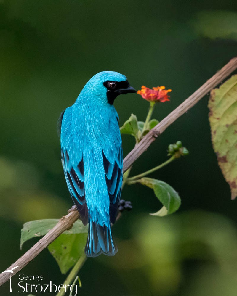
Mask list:
[[[107,99],[108,103],[111,105],[113,105],[113,102],[118,95],[137,92],[132,86],[130,86],[127,80],[105,81],[103,85],[107,88]]]

